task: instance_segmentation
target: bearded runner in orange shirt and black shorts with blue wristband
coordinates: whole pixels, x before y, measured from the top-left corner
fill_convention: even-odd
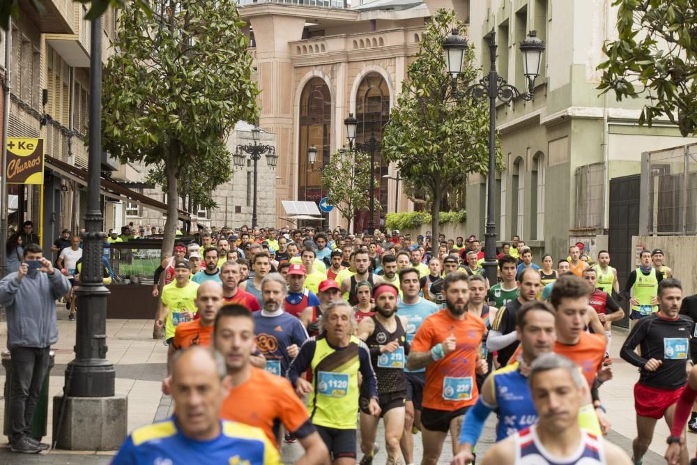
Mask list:
[[[475,371],[487,372],[480,359],[484,321],[467,312],[468,275],[445,276],[445,310],[424,320],[411,343],[408,369],[426,368],[422,401],[422,465],[436,465],[450,432],[453,454],[465,412],[477,401]]]

